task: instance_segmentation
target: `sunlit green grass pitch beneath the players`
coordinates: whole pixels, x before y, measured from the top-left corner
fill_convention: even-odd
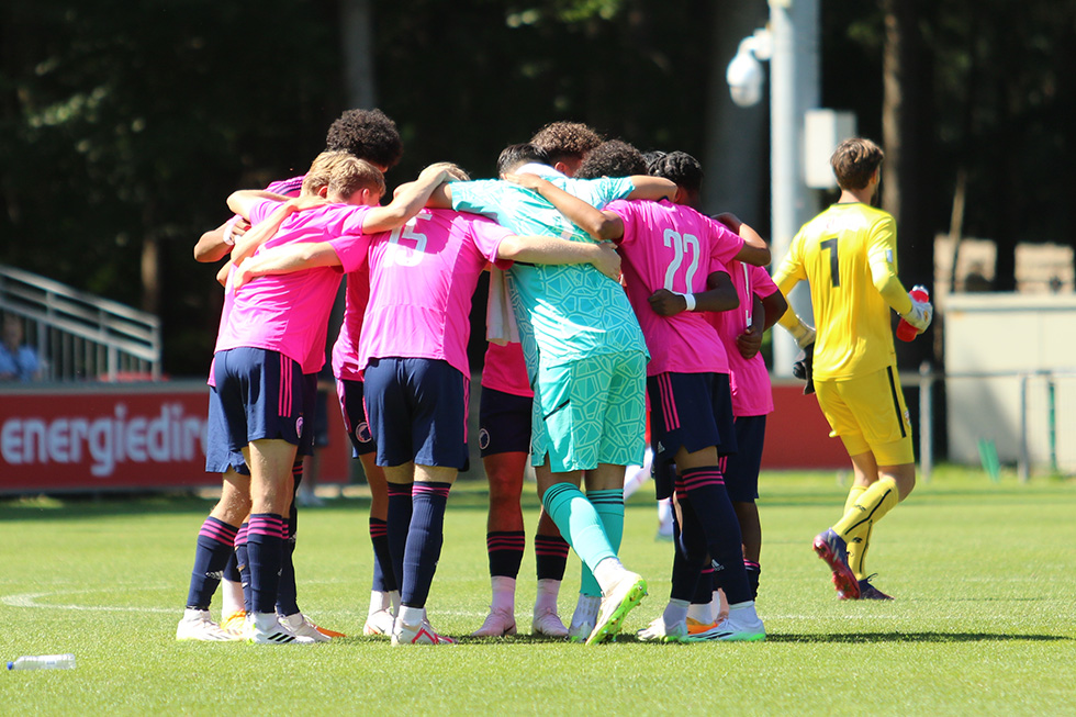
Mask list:
[[[647,492],[649,489],[643,489]],[[946,468],[875,529],[868,567],[897,600],[836,600],[811,537],[838,517],[832,473],[766,473],[759,613],[765,642],[634,639],[669,594],[671,546],[650,495],[627,508],[621,557],[650,582],[614,645],[468,639],[485,615],[485,492],[449,500],[430,617],[457,647],[349,637],[312,647],[175,640],[198,527],[195,497],[0,502],[0,659],[74,652],[70,671],[0,675],[3,715],[1062,715],[1076,714],[1076,482],[991,483]],[[526,492],[528,529],[538,503]],[[368,503],[300,518],[300,604],[360,634]],[[530,533],[528,533],[528,541]],[[560,609],[579,585],[569,561]],[[529,631],[528,545],[516,619]]]

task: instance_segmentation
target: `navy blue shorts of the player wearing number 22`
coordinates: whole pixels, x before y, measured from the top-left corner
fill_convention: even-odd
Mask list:
[[[647,378],[647,394],[655,460],[671,461],[681,446],[736,452],[728,373],[660,373]]]

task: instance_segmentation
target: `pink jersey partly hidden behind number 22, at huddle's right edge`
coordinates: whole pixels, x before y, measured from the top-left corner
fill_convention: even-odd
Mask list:
[[[728,264],[729,276],[736,293],[740,296],[740,307],[733,311],[707,312],[706,317],[717,329],[729,356],[729,382],[732,386],[732,414],[736,416],[764,416],[773,412],[773,391],[770,388],[770,371],[756,354],[751,359],[740,356],[736,337],[748,327],[748,315],[754,304],[754,296],[765,299],[777,291],[770,275],[762,267],[752,267],[732,260]]]

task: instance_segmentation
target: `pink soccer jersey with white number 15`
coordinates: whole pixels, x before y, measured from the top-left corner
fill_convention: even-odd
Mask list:
[[[371,358],[447,361],[464,377],[471,296],[512,232],[474,214],[423,210],[370,244],[370,303],[359,338],[359,367]]]

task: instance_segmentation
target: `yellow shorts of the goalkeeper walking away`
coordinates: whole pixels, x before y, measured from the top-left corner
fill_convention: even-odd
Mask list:
[[[871,451],[878,466],[915,462],[911,419],[896,367],[854,379],[815,379],[815,395],[832,428],[830,436],[840,437],[849,456]]]

